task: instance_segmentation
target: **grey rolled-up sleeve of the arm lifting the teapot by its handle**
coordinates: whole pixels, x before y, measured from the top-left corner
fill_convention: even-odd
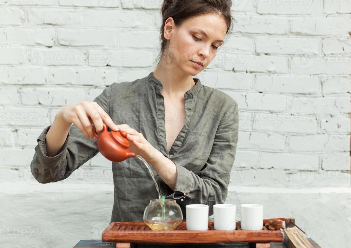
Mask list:
[[[108,114],[111,87],[112,84],[94,99],[94,102]],[[35,153],[31,161],[31,172],[42,184],[67,178],[99,152],[96,140],[88,139],[75,124],[72,124],[59,153],[53,157],[47,156],[46,135],[50,127],[51,125],[47,126],[37,138],[38,144],[34,148]]]

